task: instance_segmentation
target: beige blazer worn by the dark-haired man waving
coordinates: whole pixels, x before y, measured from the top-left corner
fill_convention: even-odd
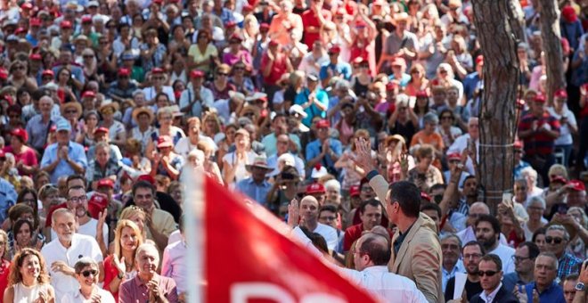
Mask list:
[[[388,182],[383,176],[374,176],[370,185],[380,201],[386,204]],[[431,218],[421,213],[404,238],[400,250],[394,252],[394,242],[398,238],[396,232],[392,237],[392,258],[388,263],[391,273],[404,275],[416,284],[427,300],[431,303],[444,302],[441,288],[441,266],[443,255],[437,236],[437,227]]]

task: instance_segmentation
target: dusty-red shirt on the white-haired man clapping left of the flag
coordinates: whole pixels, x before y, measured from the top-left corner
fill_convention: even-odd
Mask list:
[[[159,280],[159,292],[166,297],[170,303],[176,303],[177,291],[176,282],[173,279],[155,274],[154,278]],[[147,285],[141,281],[137,274],[135,278],[120,284],[118,288],[118,302],[148,302],[149,290]]]

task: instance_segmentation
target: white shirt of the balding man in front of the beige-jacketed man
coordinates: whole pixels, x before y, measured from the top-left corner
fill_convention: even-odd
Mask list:
[[[371,266],[359,272],[336,267],[339,274],[361,285],[384,302],[427,302],[427,299],[408,278],[388,272],[388,266]]]

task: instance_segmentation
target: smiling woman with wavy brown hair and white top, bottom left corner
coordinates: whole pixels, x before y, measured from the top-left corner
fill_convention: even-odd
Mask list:
[[[45,259],[33,249],[20,250],[10,267],[10,287],[4,291],[5,303],[53,303],[55,291],[49,284]]]

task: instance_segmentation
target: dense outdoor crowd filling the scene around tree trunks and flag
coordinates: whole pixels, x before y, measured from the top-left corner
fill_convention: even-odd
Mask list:
[[[489,209],[499,76],[469,0],[0,0],[4,302],[184,301],[189,169],[389,301],[584,302],[588,5],[557,2],[548,96],[519,3],[514,186]]]

